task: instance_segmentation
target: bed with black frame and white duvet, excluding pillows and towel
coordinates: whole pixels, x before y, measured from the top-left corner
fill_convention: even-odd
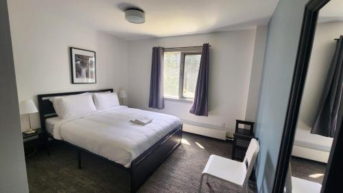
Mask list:
[[[81,153],[86,152],[130,172],[131,192],[136,192],[180,145],[180,119],[126,106],[62,119],[56,115],[49,101],[51,97],[85,92],[113,92],[113,89],[39,94],[38,106],[42,128],[47,131],[50,138],[77,149],[79,168],[82,168]],[[130,122],[133,116],[140,114],[153,118],[152,123],[142,127]]]

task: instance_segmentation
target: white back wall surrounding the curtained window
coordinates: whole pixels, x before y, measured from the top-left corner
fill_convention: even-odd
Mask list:
[[[128,100],[131,107],[178,116],[185,123],[233,131],[235,119],[244,119],[255,29],[212,34],[133,40],[129,42]],[[209,116],[189,114],[190,103],[165,101],[164,110],[148,107],[152,47],[199,46],[209,42]],[[221,128],[226,123],[225,128]]]

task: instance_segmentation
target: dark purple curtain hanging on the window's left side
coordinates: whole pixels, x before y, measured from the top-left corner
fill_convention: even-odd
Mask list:
[[[161,110],[165,107],[163,98],[163,57],[162,47],[152,48],[149,107]]]

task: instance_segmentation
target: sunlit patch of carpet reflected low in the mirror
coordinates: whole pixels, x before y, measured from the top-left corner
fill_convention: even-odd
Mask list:
[[[300,179],[322,183],[327,164],[314,162],[309,159],[292,157],[291,166],[292,176],[298,177]]]

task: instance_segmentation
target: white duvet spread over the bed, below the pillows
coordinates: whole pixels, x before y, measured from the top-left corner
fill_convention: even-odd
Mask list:
[[[144,126],[131,123],[137,116],[149,116],[152,123]],[[53,132],[56,140],[130,167],[132,160],[180,124],[175,116],[119,106],[59,120]]]

